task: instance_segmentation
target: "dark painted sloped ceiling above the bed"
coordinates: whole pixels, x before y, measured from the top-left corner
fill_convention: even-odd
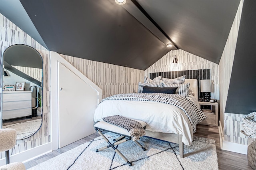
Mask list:
[[[127,0],[123,6],[114,0],[20,2],[40,35],[32,37],[49,50],[145,70],[177,49],[166,47],[171,41],[184,51],[219,63],[240,0]],[[12,16],[14,11],[1,8],[22,30],[28,27]]]

